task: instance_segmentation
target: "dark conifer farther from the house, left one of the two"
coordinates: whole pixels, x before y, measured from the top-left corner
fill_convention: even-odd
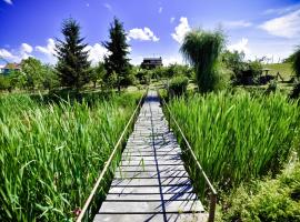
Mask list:
[[[74,19],[64,20],[61,32],[64,41],[57,40],[56,43],[58,75],[61,85],[79,91],[89,82],[88,44],[82,43],[84,38],[80,38],[80,26]]]

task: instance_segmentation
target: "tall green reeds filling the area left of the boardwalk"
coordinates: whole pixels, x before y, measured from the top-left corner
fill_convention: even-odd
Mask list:
[[[140,95],[0,97],[0,221],[74,218]]]

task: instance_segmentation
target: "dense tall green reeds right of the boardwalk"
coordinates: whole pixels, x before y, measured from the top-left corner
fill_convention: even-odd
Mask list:
[[[224,190],[278,172],[299,130],[297,103],[280,94],[220,92],[169,104],[204,172]]]

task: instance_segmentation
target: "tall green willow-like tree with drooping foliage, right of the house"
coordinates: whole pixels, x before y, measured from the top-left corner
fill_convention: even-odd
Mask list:
[[[201,92],[212,91],[218,85],[218,60],[223,42],[223,34],[219,31],[193,30],[184,37],[180,51],[194,67],[198,89]]]

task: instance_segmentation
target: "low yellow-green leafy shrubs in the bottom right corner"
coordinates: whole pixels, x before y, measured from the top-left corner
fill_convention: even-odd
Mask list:
[[[223,221],[299,221],[300,165],[287,169],[277,179],[241,185],[224,200]]]

